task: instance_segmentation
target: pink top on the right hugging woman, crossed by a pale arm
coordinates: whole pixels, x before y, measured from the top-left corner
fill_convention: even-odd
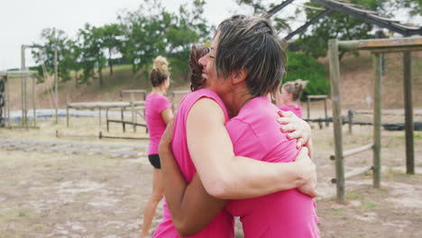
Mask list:
[[[280,133],[279,109],[267,97],[256,97],[225,124],[234,154],[267,162],[296,159],[296,140]],[[240,216],[244,237],[319,237],[314,199],[290,189],[251,199],[231,200],[225,209]]]

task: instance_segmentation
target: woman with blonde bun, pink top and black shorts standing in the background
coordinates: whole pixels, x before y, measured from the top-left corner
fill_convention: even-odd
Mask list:
[[[167,59],[161,56],[154,59],[154,64],[150,72],[150,79],[152,91],[145,100],[145,120],[148,132],[150,133],[148,159],[154,168],[154,172],[152,176],[151,197],[143,212],[141,238],[148,236],[155,210],[164,195],[158,146],[162,133],[164,133],[166,129],[166,125],[173,118],[170,101],[167,96],[165,96],[170,87],[170,72]]]

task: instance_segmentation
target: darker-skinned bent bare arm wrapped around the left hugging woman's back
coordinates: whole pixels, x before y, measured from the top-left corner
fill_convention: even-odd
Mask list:
[[[161,174],[171,220],[180,236],[188,236],[203,230],[223,209],[226,201],[206,193],[197,174],[187,184],[171,151],[172,125],[168,124],[161,137]]]

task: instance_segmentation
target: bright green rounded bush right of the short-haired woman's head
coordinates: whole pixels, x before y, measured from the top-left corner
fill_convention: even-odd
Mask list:
[[[326,68],[306,54],[288,51],[288,69],[283,78],[283,84],[298,78],[308,81],[301,96],[302,100],[306,99],[308,95],[328,95],[330,93]]]

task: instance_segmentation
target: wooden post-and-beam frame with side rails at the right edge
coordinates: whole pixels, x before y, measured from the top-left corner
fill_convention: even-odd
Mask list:
[[[335,179],[337,201],[345,203],[344,179],[351,178],[362,172],[373,171],[373,187],[381,186],[381,54],[403,52],[404,64],[404,100],[405,100],[405,129],[406,129],[406,166],[407,173],[414,174],[413,148],[413,105],[411,94],[411,58],[410,52],[422,50],[422,37],[404,37],[397,39],[376,39],[362,41],[328,41],[331,95],[333,101],[333,124],[335,136]],[[373,104],[373,143],[350,151],[343,151],[342,117],[340,104],[340,64],[339,50],[370,50],[373,55],[374,66],[374,104]],[[356,169],[357,172],[344,175],[344,158],[357,152],[373,150],[373,166]]]

